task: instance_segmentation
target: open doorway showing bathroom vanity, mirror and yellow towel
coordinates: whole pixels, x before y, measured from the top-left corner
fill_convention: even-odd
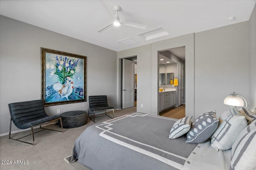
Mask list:
[[[163,72],[163,64],[166,66],[165,72]],[[159,115],[176,119],[185,117],[185,68],[185,47],[159,52],[159,88],[160,90],[163,88],[162,92],[159,91]],[[165,82],[163,82],[163,76],[160,75],[163,73],[165,73]]]

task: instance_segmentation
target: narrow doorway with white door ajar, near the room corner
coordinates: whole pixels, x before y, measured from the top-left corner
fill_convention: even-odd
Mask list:
[[[121,59],[121,108],[137,107],[137,56]]]

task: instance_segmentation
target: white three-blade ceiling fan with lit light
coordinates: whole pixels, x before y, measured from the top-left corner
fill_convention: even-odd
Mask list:
[[[115,5],[114,10],[116,11],[116,14],[113,14],[110,6],[108,4],[107,4],[107,6],[108,6],[108,9],[110,10],[110,13],[114,17],[114,22],[109,24],[108,26],[100,29],[100,31],[98,31],[98,33],[102,32],[102,31],[105,31],[106,29],[108,29],[109,27],[111,27],[113,25],[114,26],[119,26],[120,24],[130,26],[130,27],[140,28],[140,29],[146,29],[147,25],[142,25],[142,24],[138,24],[138,23],[130,23],[130,22],[121,22],[120,18],[119,18],[119,15],[118,15],[118,11],[121,10],[121,7],[118,6],[118,5]]]

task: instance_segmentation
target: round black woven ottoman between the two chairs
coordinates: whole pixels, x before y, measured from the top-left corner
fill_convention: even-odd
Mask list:
[[[62,126],[65,129],[83,126],[86,124],[88,119],[86,111],[67,111],[61,113],[60,117],[62,120]]]

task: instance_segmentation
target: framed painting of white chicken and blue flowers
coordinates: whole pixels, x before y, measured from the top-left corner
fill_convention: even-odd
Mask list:
[[[86,102],[86,56],[41,47],[44,106]]]

